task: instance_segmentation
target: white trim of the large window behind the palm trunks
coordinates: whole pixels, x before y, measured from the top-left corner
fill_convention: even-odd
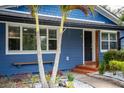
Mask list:
[[[9,50],[9,36],[8,36],[8,26],[19,26],[20,27],[20,50]],[[36,54],[37,51],[36,50],[23,50],[23,33],[22,33],[22,27],[31,27],[31,28],[35,28],[35,24],[23,24],[23,23],[14,23],[14,22],[6,22],[6,34],[5,34],[5,40],[6,40],[6,55],[13,55],[13,54]],[[40,25],[40,28],[46,28],[47,29],[47,34],[48,34],[48,29],[56,29],[57,30],[57,42],[58,42],[58,27],[57,26],[48,26],[48,25]],[[47,35],[47,41],[48,41],[48,35]],[[48,44],[48,42],[47,42]],[[47,45],[47,50],[42,50],[43,54],[53,54],[56,53],[57,50],[48,50],[48,46]]]

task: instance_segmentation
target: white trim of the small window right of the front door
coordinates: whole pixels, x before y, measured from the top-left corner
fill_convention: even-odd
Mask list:
[[[109,33],[108,34],[108,40],[102,40],[102,33]],[[110,33],[115,33],[116,34],[116,40],[110,40]],[[102,41],[108,41],[109,43],[108,43],[108,49],[102,49]],[[102,30],[102,31],[100,31],[100,51],[101,52],[107,52],[107,51],[109,51],[110,50],[110,41],[115,41],[115,42],[117,42],[117,31],[108,31],[108,30]]]

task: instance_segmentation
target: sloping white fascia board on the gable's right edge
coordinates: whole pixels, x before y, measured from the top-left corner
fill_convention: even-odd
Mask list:
[[[106,18],[110,19],[112,22],[118,24],[119,18],[117,18],[101,6],[96,6],[96,11],[99,12],[101,15],[105,16]]]

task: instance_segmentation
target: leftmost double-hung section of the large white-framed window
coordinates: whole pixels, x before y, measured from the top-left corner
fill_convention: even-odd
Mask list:
[[[20,27],[9,26],[8,30],[8,49],[20,50]]]

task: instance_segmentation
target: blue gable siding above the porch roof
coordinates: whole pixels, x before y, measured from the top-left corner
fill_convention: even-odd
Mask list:
[[[9,8],[11,10],[17,10],[21,12],[28,12],[29,9],[25,6],[20,6],[20,7],[13,7]],[[60,8],[58,5],[43,5],[39,9],[39,14],[46,14],[46,15],[54,15],[54,16],[61,16]],[[104,17],[100,13],[96,12],[94,15],[90,13],[89,16],[85,16],[85,14],[80,11],[80,10],[73,10],[72,12],[69,13],[68,15],[70,18],[77,18],[77,19],[86,19],[86,20],[93,20],[93,21],[101,21],[109,24],[114,24],[111,20],[108,18]]]

